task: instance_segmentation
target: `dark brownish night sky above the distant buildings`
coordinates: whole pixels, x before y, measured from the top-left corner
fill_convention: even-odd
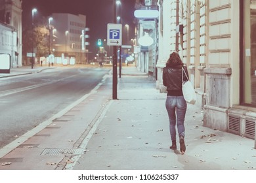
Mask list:
[[[22,24],[30,24],[32,21],[32,9],[37,8],[34,16],[51,16],[52,13],[84,14],[87,16],[87,25],[90,31],[87,33],[90,43],[87,48],[94,57],[97,51],[96,41],[106,39],[107,24],[114,23],[114,0],[23,0],[22,1]],[[134,11],[135,0],[121,0],[121,24],[129,24],[129,38],[134,38]],[[123,30],[123,34],[127,29]],[[125,42],[124,42],[125,41]],[[127,44],[126,40],[123,44]]]

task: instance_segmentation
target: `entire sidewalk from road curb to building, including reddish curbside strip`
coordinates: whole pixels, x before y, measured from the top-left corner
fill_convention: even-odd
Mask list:
[[[112,75],[106,75],[89,95],[5,148],[10,152],[0,150],[6,163],[0,169],[256,169],[254,141],[203,127],[195,105],[186,114],[185,154],[179,144],[170,150],[166,93],[155,84],[123,67],[112,100]]]

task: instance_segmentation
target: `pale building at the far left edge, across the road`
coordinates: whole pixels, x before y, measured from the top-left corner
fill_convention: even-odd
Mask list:
[[[3,26],[7,27],[11,31],[11,35],[7,33],[1,33],[2,35],[2,48],[0,52],[7,52],[11,56],[11,67],[22,66],[22,1],[20,0],[0,0],[0,21]],[[8,33],[10,34],[10,33]],[[11,37],[11,39],[9,39]],[[15,40],[14,40],[15,39]],[[5,42],[5,43],[3,43]],[[6,42],[12,42],[11,48],[9,46],[3,46],[3,44],[9,44]],[[4,50],[3,50],[4,49]]]

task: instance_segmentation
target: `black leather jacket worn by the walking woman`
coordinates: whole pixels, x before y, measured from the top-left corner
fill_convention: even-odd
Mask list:
[[[188,69],[183,66],[186,75]],[[186,75],[183,73],[183,81],[187,81]],[[163,85],[167,87],[167,95],[182,96],[182,68],[179,67],[164,67],[163,68]]]

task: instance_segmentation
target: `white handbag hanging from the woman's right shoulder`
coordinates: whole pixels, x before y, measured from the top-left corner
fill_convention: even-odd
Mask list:
[[[190,80],[188,80],[187,75],[186,75],[187,81],[186,82],[183,81],[183,73],[185,73],[185,75],[186,75],[186,72],[184,71],[184,69],[182,67],[182,93],[183,93],[183,97],[184,97],[184,99],[187,103],[195,104],[196,103],[196,92],[194,90],[194,86],[192,85]]]

